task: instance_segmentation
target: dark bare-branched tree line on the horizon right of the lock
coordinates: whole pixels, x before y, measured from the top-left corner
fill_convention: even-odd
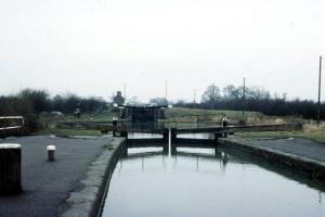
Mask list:
[[[202,95],[198,103],[179,101],[176,106],[210,108],[210,110],[235,110],[255,111],[265,115],[300,116],[316,119],[317,102],[312,100],[288,100],[286,94],[281,97],[271,94],[268,90],[259,87],[235,87],[227,85],[220,89],[210,85]],[[321,104],[321,119],[325,119],[325,105]]]

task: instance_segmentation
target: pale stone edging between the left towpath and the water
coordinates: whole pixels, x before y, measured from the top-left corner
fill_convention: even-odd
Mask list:
[[[60,207],[62,217],[99,216],[103,196],[109,186],[115,165],[125,148],[126,140],[114,138],[102,154],[91,163],[87,177],[80,180],[69,197]]]

